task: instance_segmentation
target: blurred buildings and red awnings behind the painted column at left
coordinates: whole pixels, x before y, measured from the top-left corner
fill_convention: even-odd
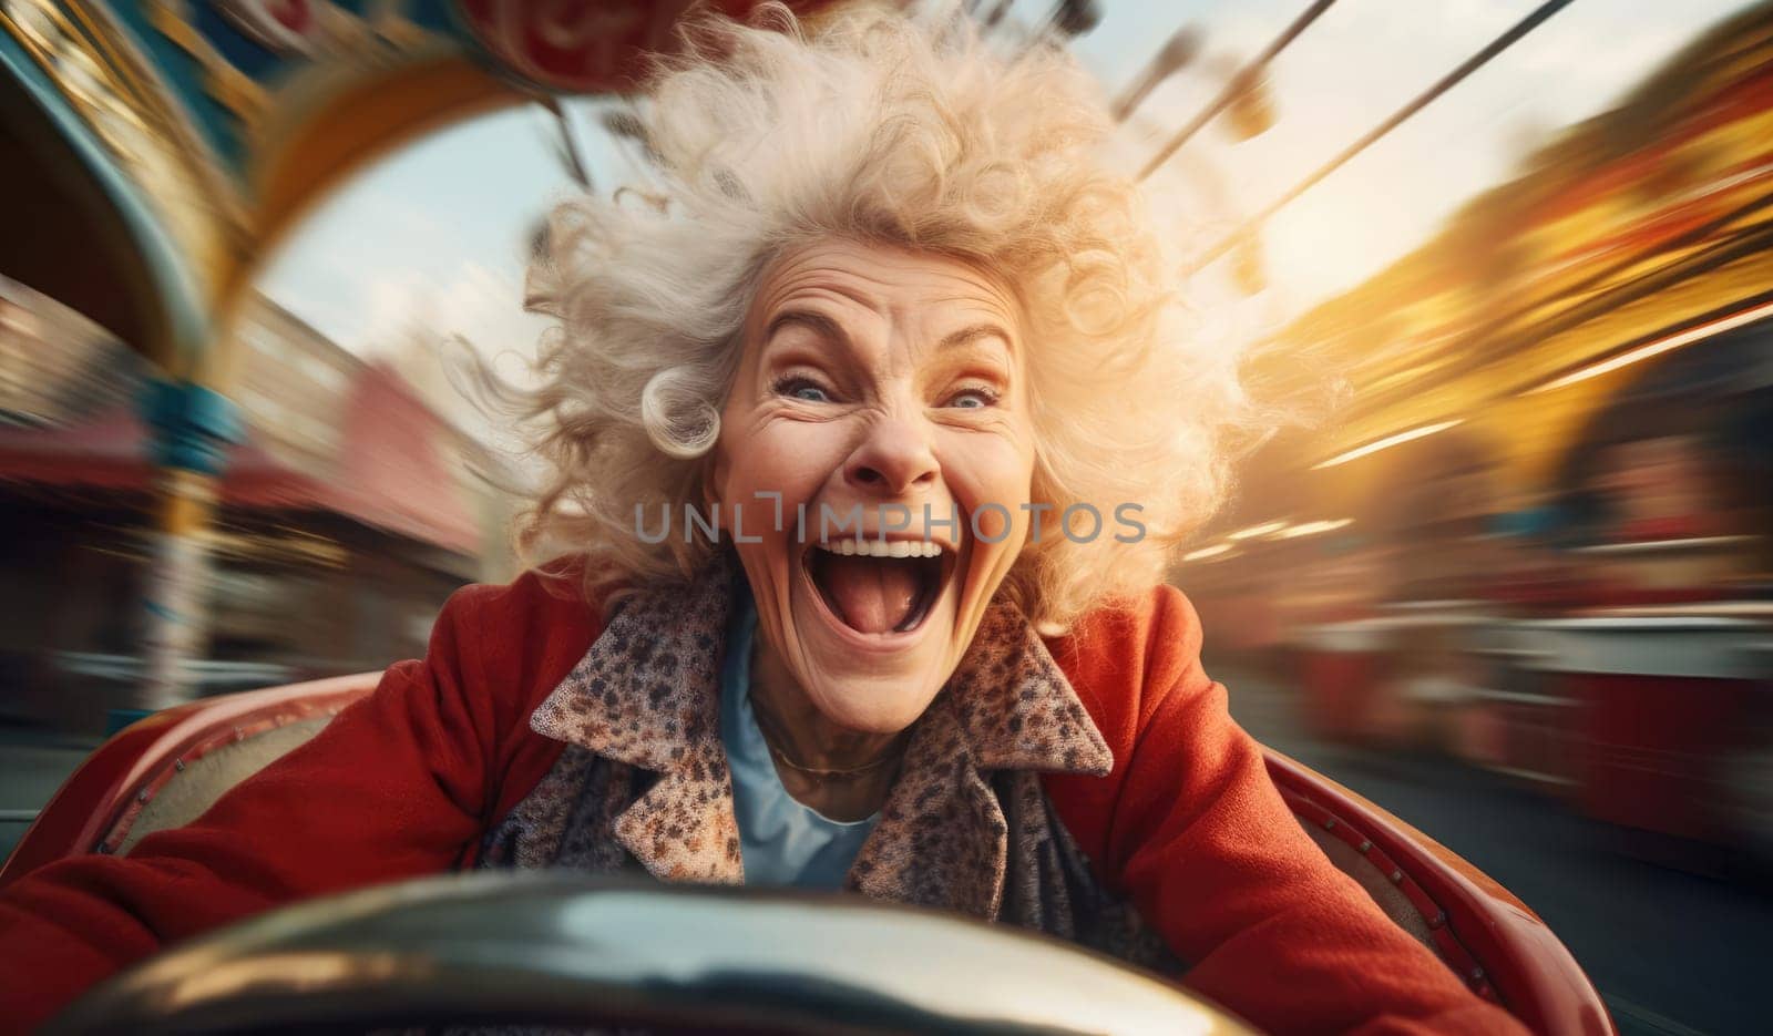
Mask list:
[[[9,318],[11,314],[11,318]],[[246,429],[200,543],[197,692],[379,669],[424,651],[457,585],[502,578],[496,461],[387,364],[365,364],[264,296],[239,323]],[[98,731],[144,676],[137,608],[152,546],[151,367],[112,335],[0,280],[0,720]]]

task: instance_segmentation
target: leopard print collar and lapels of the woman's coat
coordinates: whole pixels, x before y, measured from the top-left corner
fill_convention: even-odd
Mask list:
[[[720,742],[720,660],[736,564],[640,591],[530,717],[548,738],[660,773],[615,837],[663,880],[741,883]],[[849,873],[876,898],[993,917],[1007,825],[984,773],[1108,773],[1113,757],[1028,619],[995,601],[911,731],[899,782]]]

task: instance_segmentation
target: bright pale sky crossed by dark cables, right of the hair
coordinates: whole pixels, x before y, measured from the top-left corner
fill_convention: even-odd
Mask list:
[[[1105,5],[1101,27],[1074,50],[1112,94],[1175,25],[1204,34],[1204,57],[1154,90],[1135,117],[1154,138],[1151,151],[1218,92],[1222,67],[1261,51],[1307,7],[1303,0]],[[1342,0],[1271,66],[1277,122],[1268,133],[1239,144],[1209,128],[1160,176],[1200,184],[1193,195],[1209,202],[1200,206],[1207,229],[1238,225],[1537,5]],[[1273,294],[1266,302],[1296,316],[1365,280],[1429,238],[1464,199],[1507,179],[1558,128],[1610,108],[1663,59],[1743,7],[1741,0],[1571,4],[1282,209],[1264,232]]]

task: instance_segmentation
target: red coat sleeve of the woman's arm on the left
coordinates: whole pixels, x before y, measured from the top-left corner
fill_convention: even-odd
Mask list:
[[[449,869],[480,830],[504,717],[484,694],[480,598],[443,607],[424,662],[202,818],[128,857],[50,864],[0,894],[0,1031],[28,1031],[156,949],[269,906]]]

